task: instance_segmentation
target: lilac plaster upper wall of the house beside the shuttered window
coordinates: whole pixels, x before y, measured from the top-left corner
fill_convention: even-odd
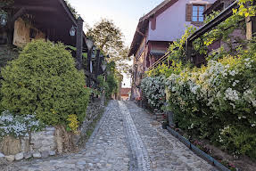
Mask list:
[[[156,29],[151,28],[149,23],[150,41],[175,41],[185,33],[186,25],[186,4],[213,4],[216,0],[178,0],[177,3],[162,12],[156,18]]]

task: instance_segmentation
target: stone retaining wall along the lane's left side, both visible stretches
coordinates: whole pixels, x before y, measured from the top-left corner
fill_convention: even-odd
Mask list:
[[[74,137],[74,143],[78,144],[87,130],[93,129],[92,124],[100,117],[104,106],[101,99],[95,99],[87,107],[87,117],[83,125],[79,128],[79,132]],[[29,136],[15,139],[13,137],[4,137],[0,142],[0,165],[14,160],[30,159],[30,158],[48,158],[56,155],[57,142],[55,137],[55,128],[46,127],[41,132],[31,133]]]

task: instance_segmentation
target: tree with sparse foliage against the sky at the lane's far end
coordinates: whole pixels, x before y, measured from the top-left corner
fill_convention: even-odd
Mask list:
[[[128,47],[124,44],[123,34],[112,20],[102,19],[93,28],[88,28],[87,37],[95,41],[95,45],[110,55],[119,72],[128,73]]]

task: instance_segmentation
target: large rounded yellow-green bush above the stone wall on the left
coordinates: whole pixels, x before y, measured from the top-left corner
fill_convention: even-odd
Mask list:
[[[2,76],[5,110],[35,113],[47,125],[66,125],[71,114],[80,122],[85,118],[89,96],[85,77],[64,45],[33,41],[2,70]]]

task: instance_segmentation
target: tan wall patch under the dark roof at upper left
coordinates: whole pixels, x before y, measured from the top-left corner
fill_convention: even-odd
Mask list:
[[[34,28],[30,23],[25,22],[21,18],[15,20],[14,23],[14,35],[13,35],[13,45],[18,47],[23,47],[31,41],[30,28]],[[34,28],[37,32],[35,39],[43,38],[45,39],[45,34],[37,28]]]

